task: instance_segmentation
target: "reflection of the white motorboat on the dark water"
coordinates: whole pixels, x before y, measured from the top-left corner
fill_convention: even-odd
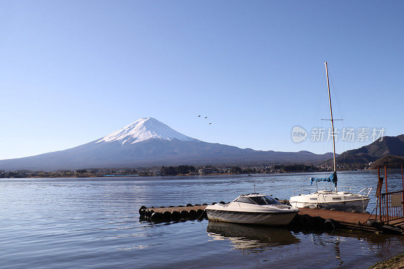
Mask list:
[[[206,229],[211,240],[229,240],[233,249],[256,249],[299,243],[289,230],[268,226],[209,221]]]

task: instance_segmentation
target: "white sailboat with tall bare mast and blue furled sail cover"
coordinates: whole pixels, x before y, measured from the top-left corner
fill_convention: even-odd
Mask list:
[[[326,75],[327,75],[327,86],[328,86],[328,99],[330,103],[330,116],[331,116],[331,128],[334,131],[334,119],[332,117],[332,105],[331,105],[331,94],[330,94],[330,83],[328,81],[328,62],[325,62]],[[318,190],[314,192],[305,193],[305,191],[300,192],[300,194],[295,195],[294,191],[292,197],[289,199],[289,203],[294,207],[308,207],[308,208],[321,208],[329,210],[341,210],[341,211],[360,211],[364,212],[369,203],[369,193],[372,188],[365,188],[358,193],[352,193],[350,187],[340,187],[341,191],[337,190],[337,172],[335,164],[335,138],[332,136],[333,144],[333,159],[334,159],[334,173],[328,178],[310,178],[311,183],[314,181],[328,181],[335,184],[335,190]]]

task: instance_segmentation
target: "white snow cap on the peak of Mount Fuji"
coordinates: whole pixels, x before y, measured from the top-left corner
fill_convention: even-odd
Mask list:
[[[162,139],[162,140],[173,140],[178,139],[181,141],[199,141],[195,138],[183,135],[164,123],[154,119],[154,118],[142,118],[122,129],[113,132],[109,135],[104,136],[96,143],[99,142],[113,142],[120,141],[122,145],[124,143],[137,143],[150,138]]]

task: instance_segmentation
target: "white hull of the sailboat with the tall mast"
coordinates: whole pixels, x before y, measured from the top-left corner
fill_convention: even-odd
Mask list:
[[[369,198],[360,200],[348,200],[337,202],[295,202],[291,201],[290,204],[297,208],[309,207],[309,208],[321,208],[321,209],[336,209],[340,211],[360,211],[364,212],[368,207]]]

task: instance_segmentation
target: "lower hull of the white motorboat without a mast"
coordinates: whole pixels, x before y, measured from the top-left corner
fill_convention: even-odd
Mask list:
[[[298,211],[289,212],[252,212],[206,209],[208,219],[228,223],[258,224],[280,226],[288,225]]]

